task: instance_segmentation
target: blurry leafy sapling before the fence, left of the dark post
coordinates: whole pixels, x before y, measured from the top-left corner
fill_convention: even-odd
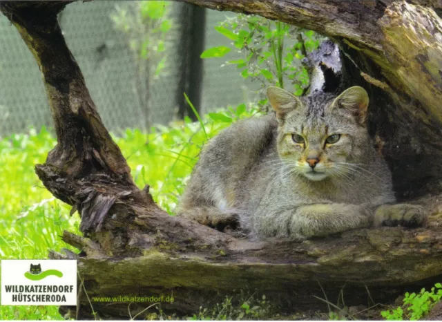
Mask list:
[[[165,74],[167,35],[173,25],[169,1],[124,1],[111,15],[114,26],[123,32],[127,46],[138,66],[136,91],[144,104],[147,129],[151,127],[149,92],[152,84]],[[142,84],[145,84],[144,88]]]

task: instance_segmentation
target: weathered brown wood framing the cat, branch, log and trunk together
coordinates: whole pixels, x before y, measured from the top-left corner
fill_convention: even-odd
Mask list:
[[[82,251],[79,272],[86,292],[79,294],[77,317],[90,318],[93,307],[103,318],[126,319],[129,309],[134,316],[147,306],[90,303],[93,296],[173,294],[175,301],[162,307],[189,313],[248,289],[297,309],[300,303],[319,303],[311,296],[323,296],[318,281],[329,296],[345,284],[349,303],[366,303],[365,286],[375,301],[387,301],[406,287],[441,278],[442,23],[436,15],[441,2],[189,2],[257,13],[333,39],[340,55],[325,44],[311,56],[323,75],[311,91],[367,88],[370,131],[390,163],[399,198],[434,195],[417,201],[427,207],[427,225],[359,229],[304,243],[253,243],[168,216],[148,187],[135,187],[100,120],[57,23],[66,2],[2,2],[0,10],[35,55],[55,121],[58,144],[37,165],[37,175],[81,214],[86,237],[63,236]]]

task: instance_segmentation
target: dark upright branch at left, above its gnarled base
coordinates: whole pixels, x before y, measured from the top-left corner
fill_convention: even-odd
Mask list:
[[[79,178],[103,171],[133,185],[126,160],[104,127],[61,33],[57,14],[67,3],[0,3],[1,12],[19,30],[39,65],[55,123],[57,146],[46,164],[37,166],[37,173]]]

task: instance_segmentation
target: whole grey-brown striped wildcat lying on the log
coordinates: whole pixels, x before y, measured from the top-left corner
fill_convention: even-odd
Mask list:
[[[269,87],[267,97],[275,115],[233,124],[204,147],[179,216],[211,227],[237,218],[252,237],[295,240],[423,222],[419,206],[385,205],[392,178],[367,133],[363,88],[298,98]]]

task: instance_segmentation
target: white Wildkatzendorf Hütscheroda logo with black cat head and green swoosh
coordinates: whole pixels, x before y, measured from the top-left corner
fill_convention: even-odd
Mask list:
[[[2,260],[1,305],[77,305],[77,261]]]

